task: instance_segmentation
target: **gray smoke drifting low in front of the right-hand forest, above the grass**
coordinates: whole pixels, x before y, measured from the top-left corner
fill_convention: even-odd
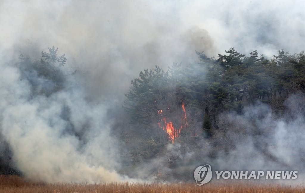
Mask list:
[[[193,181],[196,167],[210,164],[213,171],[298,171],[297,180],[268,181],[282,184],[304,182],[305,95],[296,93],[276,115],[267,104],[246,106],[242,114],[219,115],[213,138],[196,137],[196,144],[168,144],[131,175],[158,181]],[[215,177],[215,176],[214,176]],[[264,182],[265,179],[254,182]]]

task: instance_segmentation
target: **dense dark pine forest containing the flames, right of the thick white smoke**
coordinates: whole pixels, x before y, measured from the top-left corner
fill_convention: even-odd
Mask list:
[[[224,163],[230,160],[231,152],[247,162],[251,157],[238,149],[247,151],[253,143],[252,156],[261,156],[265,164],[292,167],[277,155],[276,141],[281,139],[274,136],[279,121],[288,124],[292,136],[303,133],[303,121],[295,123],[296,117],[304,116],[304,51],[291,55],[281,49],[270,59],[257,51],[241,54],[234,47],[225,52],[217,59],[196,52],[198,63],[175,62],[168,70],[156,65],[131,81],[123,105],[131,126],[121,139],[134,164],[165,155],[164,164],[174,168],[201,162],[217,165],[219,157]],[[286,135],[282,142],[293,140],[299,139]],[[168,154],[166,144],[176,143],[176,152]],[[300,164],[303,148],[290,150],[298,157],[293,164]],[[189,152],[194,154],[191,159],[186,158]],[[174,172],[183,176],[187,169]]]

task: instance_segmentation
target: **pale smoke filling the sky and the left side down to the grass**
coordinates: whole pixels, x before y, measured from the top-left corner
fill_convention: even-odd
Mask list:
[[[47,182],[125,179],[116,172],[120,144],[107,113],[121,107],[139,71],[196,62],[196,51],[216,58],[230,47],[269,57],[281,48],[300,52],[304,8],[302,1],[0,0],[1,132],[16,166]],[[33,98],[29,79],[46,80],[12,64],[20,53],[39,60],[53,45],[66,53],[67,83]],[[82,139],[70,135],[84,128]]]

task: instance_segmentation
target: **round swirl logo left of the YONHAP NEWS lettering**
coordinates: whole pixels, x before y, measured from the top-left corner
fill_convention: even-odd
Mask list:
[[[212,169],[209,164],[199,166],[194,172],[194,178],[197,185],[201,186],[208,183],[212,179]]]

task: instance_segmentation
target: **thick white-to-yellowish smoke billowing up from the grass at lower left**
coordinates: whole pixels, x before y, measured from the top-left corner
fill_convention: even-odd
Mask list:
[[[46,182],[122,181],[117,141],[109,135],[105,104],[90,104],[73,77],[49,96],[32,90],[52,81],[30,82],[19,68],[1,63],[1,131],[14,166],[31,180]]]

